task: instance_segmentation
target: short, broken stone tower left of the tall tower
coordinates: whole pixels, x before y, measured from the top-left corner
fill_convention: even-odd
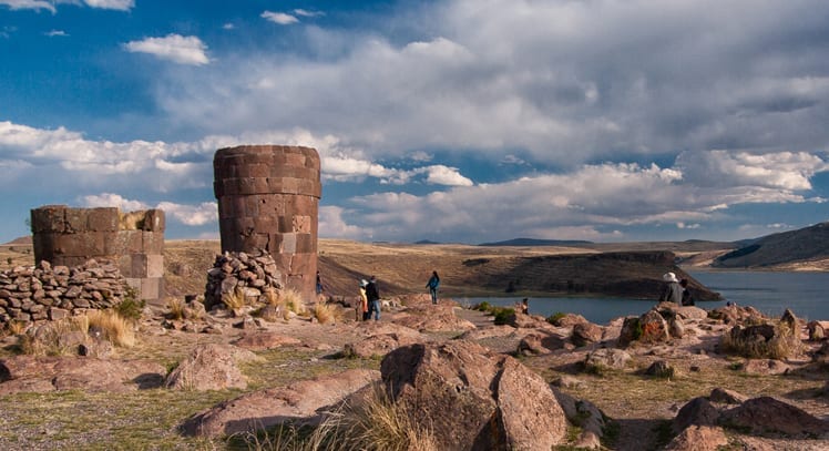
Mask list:
[[[164,298],[163,211],[47,205],[31,211],[31,223],[35,263],[78,266],[91,258],[110,260],[140,298]]]

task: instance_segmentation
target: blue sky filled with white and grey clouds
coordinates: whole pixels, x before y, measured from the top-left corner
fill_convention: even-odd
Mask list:
[[[217,237],[317,148],[320,236],[733,240],[829,219],[825,0],[0,0],[0,243],[48,204]]]

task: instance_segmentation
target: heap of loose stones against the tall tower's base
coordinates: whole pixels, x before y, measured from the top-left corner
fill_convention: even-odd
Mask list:
[[[265,304],[268,289],[279,290],[282,274],[269,254],[258,252],[253,256],[245,253],[217,255],[213,268],[207,271],[207,286],[204,306],[209,309],[222,304],[225,295],[240,291],[249,305]]]

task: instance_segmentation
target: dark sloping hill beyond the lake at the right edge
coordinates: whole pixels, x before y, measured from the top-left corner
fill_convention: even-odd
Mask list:
[[[800,262],[829,259],[829,222],[757,239],[714,260],[718,268],[760,268]]]

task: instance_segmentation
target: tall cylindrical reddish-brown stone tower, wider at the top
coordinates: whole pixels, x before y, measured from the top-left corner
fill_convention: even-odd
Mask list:
[[[317,151],[283,145],[219,148],[213,171],[222,252],[269,253],[283,285],[310,299],[321,193]]]

